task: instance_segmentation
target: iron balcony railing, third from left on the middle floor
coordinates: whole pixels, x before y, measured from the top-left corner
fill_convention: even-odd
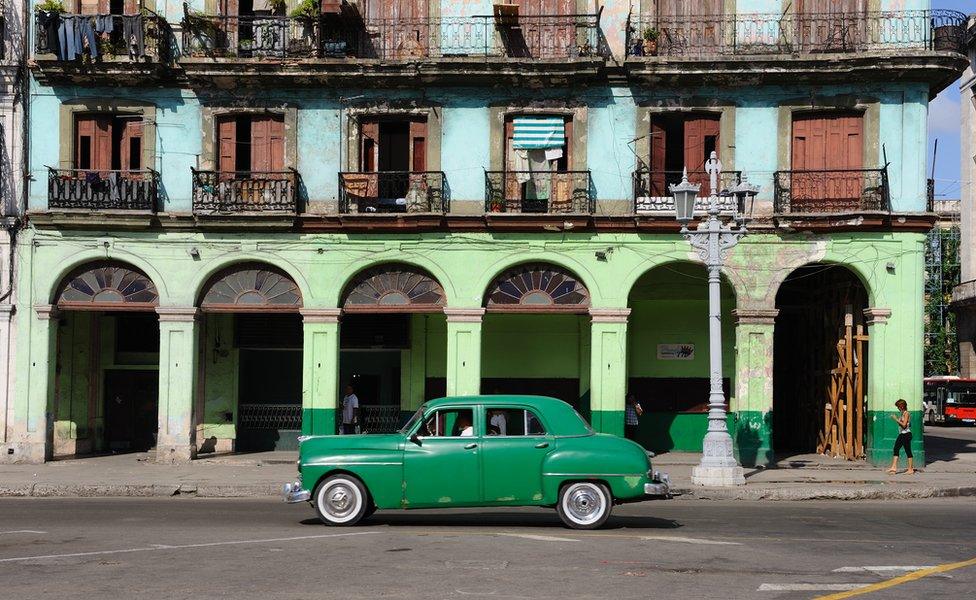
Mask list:
[[[450,198],[442,171],[339,173],[339,212],[446,213]]]

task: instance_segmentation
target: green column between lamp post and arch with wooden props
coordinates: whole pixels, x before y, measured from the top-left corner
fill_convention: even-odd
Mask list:
[[[736,309],[735,394],[729,431],[743,467],[773,462],[773,328],[776,309]]]

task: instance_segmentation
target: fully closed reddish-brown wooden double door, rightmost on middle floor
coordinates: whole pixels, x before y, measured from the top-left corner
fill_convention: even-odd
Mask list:
[[[802,115],[793,119],[792,203],[836,211],[859,204],[863,187],[861,115]]]

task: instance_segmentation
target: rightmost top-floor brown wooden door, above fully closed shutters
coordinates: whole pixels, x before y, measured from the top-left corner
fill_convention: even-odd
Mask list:
[[[865,41],[866,0],[796,0],[804,52],[841,52]]]

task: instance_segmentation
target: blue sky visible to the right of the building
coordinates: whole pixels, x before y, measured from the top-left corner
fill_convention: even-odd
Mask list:
[[[976,12],[976,0],[932,0],[932,8],[951,8],[965,13]],[[932,149],[939,140],[935,164],[936,199],[959,198],[959,83],[950,85],[929,104],[928,170],[932,172]]]

